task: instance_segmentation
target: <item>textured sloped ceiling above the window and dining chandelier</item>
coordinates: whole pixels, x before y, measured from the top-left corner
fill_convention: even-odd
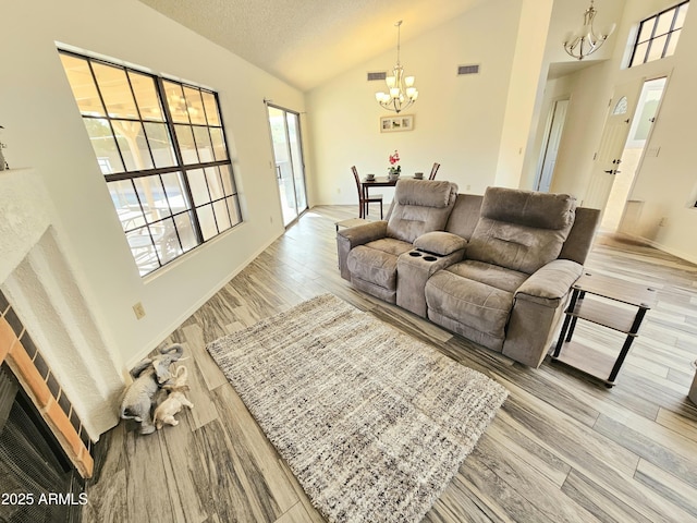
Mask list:
[[[308,90],[487,0],[139,1]]]

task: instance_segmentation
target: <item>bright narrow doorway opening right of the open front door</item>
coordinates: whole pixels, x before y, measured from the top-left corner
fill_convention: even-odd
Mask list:
[[[651,127],[656,121],[661,98],[665,89],[667,77],[648,80],[641,86],[632,125],[621,156],[621,169],[616,170],[608,196],[600,228],[615,232],[621,228],[637,170],[647,153],[658,155],[658,150],[645,151]]]

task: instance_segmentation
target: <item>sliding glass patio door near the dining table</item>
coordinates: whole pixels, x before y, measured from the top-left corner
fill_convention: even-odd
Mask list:
[[[299,115],[274,106],[268,110],[283,224],[288,226],[307,209]]]

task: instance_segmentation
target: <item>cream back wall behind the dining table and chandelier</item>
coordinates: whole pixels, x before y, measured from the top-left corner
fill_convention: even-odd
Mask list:
[[[401,61],[416,76],[414,130],[380,133],[390,113],[375,101],[383,82],[367,82],[368,71],[391,69],[396,49],[311,90],[307,120],[311,130],[315,204],[357,204],[351,166],[362,173],[387,174],[388,156],[398,149],[402,175],[441,163],[438,179],[462,192],[484,193],[497,173],[511,63],[522,0],[492,0],[436,31],[408,39],[402,25]],[[493,22],[492,22],[493,21]],[[386,31],[392,29],[387,27]],[[395,35],[396,36],[396,35]],[[457,65],[480,64],[480,74],[457,76]],[[382,191],[389,200],[389,191]]]

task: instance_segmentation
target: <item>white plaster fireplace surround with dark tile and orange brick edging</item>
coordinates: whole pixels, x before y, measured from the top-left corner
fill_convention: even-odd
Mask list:
[[[59,222],[36,171],[0,172],[0,364],[19,385],[13,409],[30,406],[59,469],[68,462],[86,478],[93,442],[119,421],[124,365],[93,314]]]

